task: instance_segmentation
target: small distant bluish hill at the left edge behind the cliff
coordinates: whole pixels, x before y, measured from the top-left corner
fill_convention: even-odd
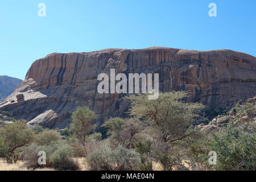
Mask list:
[[[10,96],[20,84],[22,84],[22,80],[18,78],[0,76],[0,102]]]

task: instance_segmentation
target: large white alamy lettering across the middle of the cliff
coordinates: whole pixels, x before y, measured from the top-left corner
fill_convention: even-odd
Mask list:
[[[124,73],[115,75],[115,69],[110,69],[110,80],[106,73],[100,73],[97,80],[98,93],[149,93],[148,100],[156,100],[159,96],[159,73],[154,73],[154,88],[152,85],[153,73],[129,73],[128,79]],[[103,79],[103,80],[102,80]],[[128,80],[128,82],[127,82]],[[115,84],[116,81],[119,81]],[[110,87],[110,89],[109,89]]]

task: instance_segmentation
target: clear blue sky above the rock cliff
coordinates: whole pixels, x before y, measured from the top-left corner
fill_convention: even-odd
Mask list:
[[[46,4],[46,17],[38,4]],[[217,17],[208,15],[209,3]],[[0,75],[24,79],[52,52],[152,46],[256,56],[256,1],[0,0]]]

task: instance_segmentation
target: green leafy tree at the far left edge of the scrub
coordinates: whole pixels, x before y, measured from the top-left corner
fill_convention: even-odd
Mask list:
[[[34,133],[27,128],[23,121],[18,121],[0,128],[0,156],[7,159],[7,163],[16,162],[20,148],[27,146],[34,139]]]

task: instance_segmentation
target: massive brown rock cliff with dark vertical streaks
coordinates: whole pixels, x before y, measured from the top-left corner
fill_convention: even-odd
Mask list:
[[[229,109],[238,100],[256,96],[256,58],[230,50],[188,51],[151,47],[52,53],[36,60],[26,79],[0,104],[28,125],[64,128],[77,106],[89,106],[101,125],[110,116],[124,117],[129,101],[123,94],[100,94],[100,73],[159,73],[162,92],[187,90],[189,101],[212,109]],[[16,96],[23,94],[22,100]]]

